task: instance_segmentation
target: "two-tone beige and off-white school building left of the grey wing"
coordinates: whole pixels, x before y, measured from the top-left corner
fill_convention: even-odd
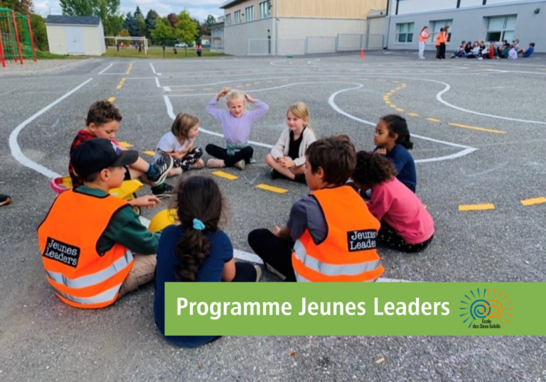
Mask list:
[[[220,9],[230,55],[303,55],[385,43],[387,0],[228,0]]]

